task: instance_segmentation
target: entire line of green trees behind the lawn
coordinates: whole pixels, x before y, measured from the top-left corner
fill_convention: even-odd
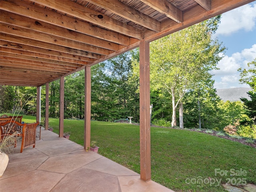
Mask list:
[[[223,102],[210,71],[226,49],[213,39],[216,16],[150,43],[150,101],[152,122],[160,126],[222,130],[240,120],[255,124],[255,69],[238,69],[241,82],[251,86],[252,101]],[[249,66],[255,65],[255,60]],[[248,74],[254,74],[248,77]],[[84,70],[65,77],[64,118],[84,118]],[[134,49],[91,67],[91,118],[113,122],[133,116],[139,122],[139,50]],[[59,80],[49,84],[49,117],[59,117]],[[36,88],[0,86],[0,113],[18,106],[36,113]],[[21,101],[18,104],[18,101]],[[23,106],[23,104],[25,105]],[[45,86],[42,86],[42,116]],[[178,119],[176,117],[179,117]]]

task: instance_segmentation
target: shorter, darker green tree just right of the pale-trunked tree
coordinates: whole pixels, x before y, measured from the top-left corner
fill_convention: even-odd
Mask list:
[[[189,128],[221,129],[222,110],[214,81],[201,82],[194,90],[189,90],[184,96],[184,125]]]

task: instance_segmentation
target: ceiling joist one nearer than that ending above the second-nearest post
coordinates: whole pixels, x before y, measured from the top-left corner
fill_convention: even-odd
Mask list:
[[[14,42],[8,42],[4,40],[0,40],[0,47],[4,48],[6,52],[13,52],[16,54],[25,54],[25,55],[35,56],[39,58],[46,58],[46,59],[52,59],[52,60],[58,60],[58,61],[64,61],[64,62],[77,63],[77,64],[84,64],[84,62],[93,62],[95,60],[93,58],[84,57],[81,55],[58,52],[54,50],[49,50],[49,49],[14,43]]]

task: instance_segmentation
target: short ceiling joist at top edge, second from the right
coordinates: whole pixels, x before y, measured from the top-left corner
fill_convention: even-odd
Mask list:
[[[180,9],[170,4],[167,0],[140,0],[144,4],[154,8],[158,12],[166,15],[170,19],[181,23],[183,22],[183,14]]]

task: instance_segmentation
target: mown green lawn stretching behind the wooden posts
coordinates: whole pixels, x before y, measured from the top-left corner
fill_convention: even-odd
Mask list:
[[[28,122],[31,116],[23,119]],[[58,123],[49,120],[56,133]],[[64,120],[64,132],[83,145],[83,120]],[[91,122],[99,153],[138,173],[139,134],[139,126],[132,124]],[[176,192],[224,192],[219,183],[226,182],[256,184],[255,148],[200,132],[152,127],[151,161],[152,180]]]

